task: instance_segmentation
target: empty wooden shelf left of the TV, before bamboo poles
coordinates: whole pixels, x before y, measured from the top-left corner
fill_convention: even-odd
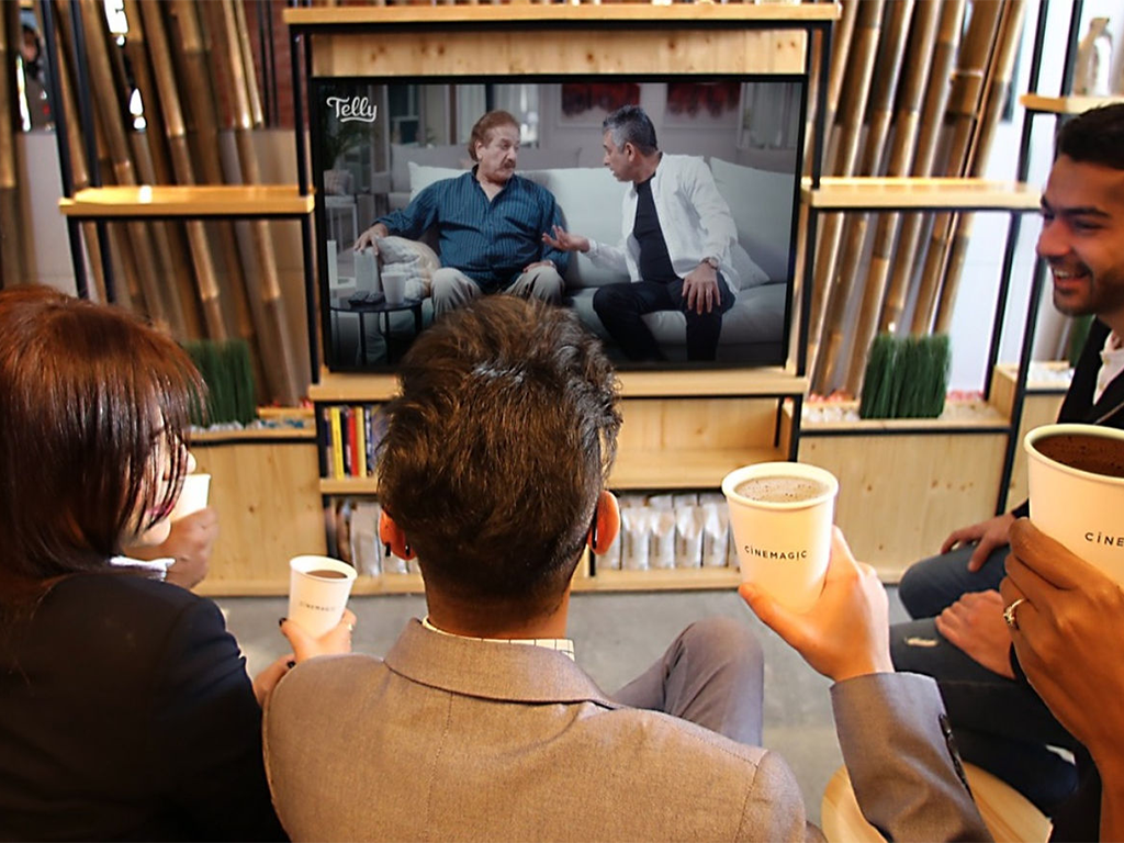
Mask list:
[[[87,188],[60,199],[67,217],[300,217],[312,212],[311,194],[294,184],[140,184]]]

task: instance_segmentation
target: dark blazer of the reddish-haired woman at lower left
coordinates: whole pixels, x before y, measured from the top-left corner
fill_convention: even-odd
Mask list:
[[[0,620],[0,840],[284,840],[218,607],[133,573]]]

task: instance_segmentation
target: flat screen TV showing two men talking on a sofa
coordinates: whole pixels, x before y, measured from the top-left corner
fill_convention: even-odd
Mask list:
[[[482,115],[497,109],[509,112],[519,127],[515,173],[549,191],[564,230],[597,244],[588,254],[568,252],[556,262],[565,264],[560,266],[561,306],[578,312],[622,369],[783,364],[794,324],[806,96],[800,78],[776,75],[311,80],[327,366],[392,372],[413,341],[433,324],[436,271],[453,263],[453,269],[472,275],[474,270],[455,266],[455,260],[442,255],[443,244],[446,252],[465,247],[463,232],[453,221],[425,232],[391,227],[391,236],[377,242],[378,255],[353,246],[377,220],[415,219],[410,203],[427,189],[423,201],[447,203],[468,196],[441,182],[462,179],[465,190],[475,183],[464,181],[474,179],[470,134]],[[661,187],[656,180],[651,190],[620,181],[605,164],[602,121],[623,106],[640,106],[652,120],[663,155],[656,165],[664,171],[656,176],[663,179]],[[532,190],[541,201],[542,191]],[[480,214],[495,207],[495,199],[484,199]],[[510,219],[504,220],[510,228]],[[643,255],[634,234],[637,223],[646,244]],[[550,233],[538,232],[544,226],[534,223],[525,227],[506,230],[506,236],[529,241],[520,248],[537,248],[542,234]],[[689,228],[694,235],[685,234]],[[661,241],[667,247],[663,257]],[[728,288],[717,342],[713,333],[707,336],[711,323],[696,328],[688,343],[687,318],[678,309],[640,316],[637,338],[629,333],[634,317],[627,302],[625,321],[607,328],[605,321],[613,317],[601,318],[610,301],[604,290],[626,285],[611,289],[632,296],[640,289],[631,285],[638,277],[659,272],[653,266],[686,277],[682,253],[692,242],[706,243],[717,254],[692,256],[690,265],[697,265],[696,260],[717,263]],[[490,245],[488,241],[483,248]],[[495,268],[493,280],[481,281],[483,289],[507,283],[519,269]],[[439,277],[441,283],[446,277]]]

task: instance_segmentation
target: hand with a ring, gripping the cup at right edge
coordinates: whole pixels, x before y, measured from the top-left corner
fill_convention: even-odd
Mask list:
[[[1124,592],[1025,518],[1010,531],[1010,637],[1034,690],[1093,754],[1106,782],[1124,781]]]

